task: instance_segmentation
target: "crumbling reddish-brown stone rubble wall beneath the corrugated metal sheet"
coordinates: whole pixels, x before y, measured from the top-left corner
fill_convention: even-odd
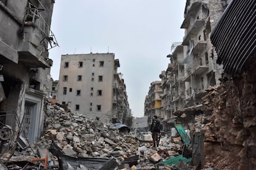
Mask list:
[[[256,71],[239,79],[225,79],[203,97],[205,167],[256,168]],[[210,117],[209,117],[210,115]]]

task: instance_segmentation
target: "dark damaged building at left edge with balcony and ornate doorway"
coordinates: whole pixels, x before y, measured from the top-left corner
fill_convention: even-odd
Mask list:
[[[58,45],[50,30],[53,5],[0,1],[0,130],[9,125],[31,144],[43,129],[44,99],[51,92],[48,50]]]

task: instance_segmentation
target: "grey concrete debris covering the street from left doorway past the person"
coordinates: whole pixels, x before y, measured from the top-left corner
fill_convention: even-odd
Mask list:
[[[15,152],[9,162],[15,164],[15,162],[29,161],[38,157],[44,159],[47,152],[49,153],[48,168],[59,168],[58,158],[69,163],[64,164],[63,167],[74,168],[74,170],[88,168],[83,163],[74,166],[73,162],[77,163],[75,159],[83,162],[88,159],[92,161],[95,158],[93,161],[98,162],[97,159],[100,158],[114,163],[114,158],[119,164],[119,169],[145,170],[153,169],[155,163],[181,155],[183,152],[180,137],[173,140],[171,136],[162,136],[160,146],[153,148],[150,141],[139,142],[134,134],[129,134],[127,126],[117,124],[110,125],[111,128],[109,128],[108,124],[98,120],[90,120],[84,115],[63,111],[55,103],[48,103],[47,109],[45,134],[41,136],[35,147]],[[150,139],[150,136],[145,135],[145,139]],[[52,144],[56,144],[59,149],[55,155],[49,152],[49,147]],[[83,158],[87,160],[82,160]],[[71,161],[69,161],[70,159]],[[43,162],[33,163],[39,165]],[[162,168],[171,167],[168,165]]]

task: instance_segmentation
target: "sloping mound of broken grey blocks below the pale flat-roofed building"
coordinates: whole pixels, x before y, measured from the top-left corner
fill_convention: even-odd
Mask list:
[[[131,137],[121,136],[118,129],[109,129],[106,124],[78,113],[67,113],[53,103],[48,104],[45,135],[37,145],[45,148],[52,141],[67,156],[114,156],[120,161],[136,155],[138,145]]]

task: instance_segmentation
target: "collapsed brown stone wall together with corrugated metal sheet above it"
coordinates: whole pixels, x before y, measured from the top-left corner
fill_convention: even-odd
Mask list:
[[[255,11],[254,1],[231,1],[211,34],[225,75],[205,96],[203,111],[211,115],[203,127],[206,166],[256,168]]]

